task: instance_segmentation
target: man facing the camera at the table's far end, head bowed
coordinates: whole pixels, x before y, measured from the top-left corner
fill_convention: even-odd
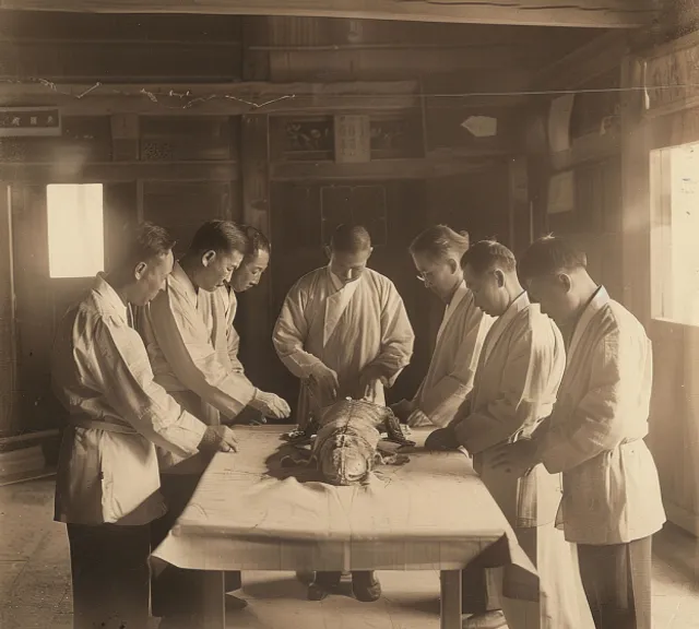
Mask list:
[[[327,253],[328,266],[291,288],[274,327],[274,348],[301,381],[299,428],[337,399],[386,404],[384,387],[393,384],[413,354],[415,336],[401,296],[388,277],[367,268],[368,232],[341,225]],[[340,574],[319,573],[316,581],[309,592],[322,597]],[[380,596],[372,573],[353,574],[353,585],[362,601]]]

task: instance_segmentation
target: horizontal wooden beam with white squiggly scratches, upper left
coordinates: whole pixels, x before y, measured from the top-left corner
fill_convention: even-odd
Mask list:
[[[418,107],[415,81],[223,84],[0,84],[0,106],[59,106],[64,116],[335,114]]]

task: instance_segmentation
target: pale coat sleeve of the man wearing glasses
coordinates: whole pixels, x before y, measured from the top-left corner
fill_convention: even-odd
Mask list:
[[[473,379],[483,348],[483,341],[493,324],[493,319],[479,308],[470,306],[465,325],[459,328],[458,339],[442,339],[442,343],[458,343],[459,351],[453,369],[429,390],[423,385],[419,395],[419,410],[434,424],[447,425],[453,415],[453,408],[465,400],[473,389]]]

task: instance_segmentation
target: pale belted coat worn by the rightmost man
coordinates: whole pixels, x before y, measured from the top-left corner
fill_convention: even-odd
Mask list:
[[[562,472],[559,524],[577,544],[623,544],[665,522],[648,434],[652,346],[641,323],[604,287],[578,321],[558,402],[535,434]]]

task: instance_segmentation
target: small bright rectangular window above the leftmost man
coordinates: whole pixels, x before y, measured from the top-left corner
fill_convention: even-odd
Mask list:
[[[102,183],[46,187],[51,277],[90,277],[104,271]]]

